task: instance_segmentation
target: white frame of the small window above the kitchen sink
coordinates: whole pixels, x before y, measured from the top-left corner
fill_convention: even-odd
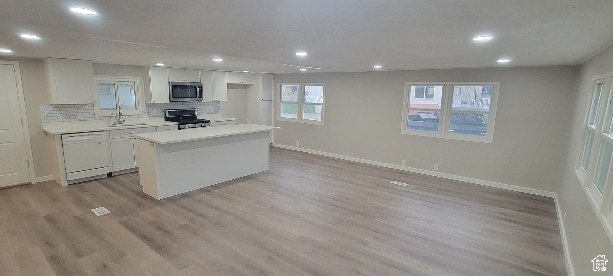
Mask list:
[[[94,75],[94,82],[96,82],[96,90],[92,91],[92,99],[94,99],[94,117],[107,117],[116,115],[119,113],[119,90],[118,85],[115,84],[115,101],[117,109],[101,110],[100,109],[100,94],[98,88],[98,82],[134,82],[134,96],[136,110],[121,110],[122,115],[142,115],[143,105],[143,85],[140,77],[128,77],[117,75]]]

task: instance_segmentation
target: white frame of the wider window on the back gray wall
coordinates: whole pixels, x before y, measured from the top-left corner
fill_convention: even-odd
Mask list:
[[[424,109],[409,107],[411,97],[411,86],[443,86],[443,94],[441,95],[440,109]],[[452,110],[453,96],[452,87],[454,86],[493,86],[492,95],[490,96],[489,111],[468,111],[468,110]],[[403,101],[402,120],[400,124],[400,133],[417,136],[439,137],[445,139],[465,140],[471,142],[492,143],[493,131],[496,118],[496,110],[498,103],[498,91],[500,90],[500,82],[405,82],[405,96]],[[425,95],[425,92],[424,92]],[[421,99],[421,98],[417,98]],[[438,132],[422,131],[416,129],[407,129],[409,110],[425,111],[425,112],[440,112],[438,122]],[[480,113],[488,114],[487,131],[485,136],[471,136],[468,134],[454,134],[449,131],[451,125],[451,113]]]

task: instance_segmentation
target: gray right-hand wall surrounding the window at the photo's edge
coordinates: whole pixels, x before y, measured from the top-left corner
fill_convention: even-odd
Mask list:
[[[596,217],[592,205],[585,195],[581,183],[574,174],[574,167],[579,147],[582,144],[582,131],[588,99],[592,93],[592,77],[613,71],[613,46],[590,58],[581,65],[572,112],[566,132],[569,136],[563,181],[558,187],[558,202],[562,212],[566,212],[564,228],[568,239],[571,263],[576,275],[613,275],[613,269],[607,273],[593,272],[593,258],[604,254],[613,256],[613,245]],[[609,257],[610,258],[610,257]],[[613,260],[612,260],[613,261]],[[609,262],[611,263],[611,261]]]

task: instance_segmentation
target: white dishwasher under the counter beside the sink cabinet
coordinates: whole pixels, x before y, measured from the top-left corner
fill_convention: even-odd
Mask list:
[[[62,145],[67,180],[109,173],[107,136],[104,131],[63,134]]]

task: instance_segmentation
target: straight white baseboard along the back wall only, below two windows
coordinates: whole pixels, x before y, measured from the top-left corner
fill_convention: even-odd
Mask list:
[[[525,187],[522,187],[522,186],[515,186],[515,185],[503,184],[503,183],[498,183],[498,182],[491,182],[491,181],[487,181],[487,180],[481,180],[481,179],[470,178],[470,177],[462,177],[462,176],[459,176],[459,175],[444,174],[442,172],[427,171],[427,170],[423,170],[423,169],[416,169],[414,167],[405,167],[405,166],[394,165],[394,164],[389,164],[389,163],[383,163],[383,162],[378,162],[378,161],[371,161],[371,160],[367,160],[367,159],[355,158],[355,157],[351,157],[351,156],[337,155],[337,154],[334,154],[334,153],[327,153],[327,152],[324,152],[324,151],[309,150],[307,148],[292,147],[292,146],[280,145],[280,144],[272,144],[272,145],[273,145],[273,147],[287,148],[288,150],[303,151],[303,152],[313,153],[313,154],[316,154],[316,155],[324,155],[324,156],[329,156],[329,157],[339,158],[339,159],[345,159],[345,160],[355,161],[355,162],[364,163],[364,164],[371,164],[371,165],[375,165],[375,166],[389,167],[391,169],[398,169],[398,170],[407,171],[407,172],[416,172],[417,174],[432,175],[432,176],[435,176],[435,177],[443,177],[443,178],[447,178],[447,179],[459,180],[459,181],[463,181],[463,182],[474,183],[474,184],[479,184],[479,185],[484,185],[484,186],[491,186],[491,187],[496,187],[496,188],[502,188],[502,189],[505,189],[505,190],[519,191],[519,192],[528,193],[528,194],[538,194],[539,196],[555,197],[555,193],[554,192],[550,192],[550,191],[536,190],[536,189],[532,189],[532,188],[525,188]]]

